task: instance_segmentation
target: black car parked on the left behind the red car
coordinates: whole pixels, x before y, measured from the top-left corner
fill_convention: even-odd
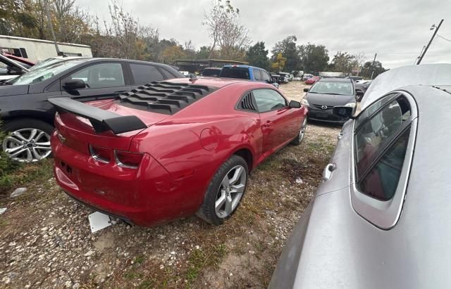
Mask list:
[[[78,101],[114,98],[142,84],[183,77],[168,65],[109,58],[60,58],[0,86],[2,129],[11,133],[2,143],[9,157],[37,162],[51,155],[54,107],[47,98]]]

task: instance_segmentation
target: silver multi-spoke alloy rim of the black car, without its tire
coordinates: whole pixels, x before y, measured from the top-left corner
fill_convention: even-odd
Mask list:
[[[6,136],[3,150],[18,162],[37,162],[51,154],[50,136],[40,129],[18,129]]]

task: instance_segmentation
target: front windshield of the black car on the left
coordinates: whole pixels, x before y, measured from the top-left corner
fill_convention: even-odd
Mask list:
[[[58,61],[57,63],[49,64],[47,66],[42,66],[41,68],[30,70],[30,72],[20,75],[15,79],[8,82],[8,84],[20,85],[20,84],[35,84],[38,82],[43,82],[46,79],[54,77],[60,72],[72,68],[75,65],[85,62],[86,60],[67,60]]]

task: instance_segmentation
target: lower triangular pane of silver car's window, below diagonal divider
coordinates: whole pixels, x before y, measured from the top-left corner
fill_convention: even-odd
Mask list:
[[[402,164],[409,142],[410,129],[404,131],[397,141],[385,151],[382,158],[360,181],[359,188],[379,200],[390,200],[395,195],[397,183],[400,180]]]

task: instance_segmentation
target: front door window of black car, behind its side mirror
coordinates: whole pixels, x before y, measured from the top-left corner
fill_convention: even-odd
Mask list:
[[[90,65],[69,76],[70,79],[82,79],[88,89],[124,86],[121,63],[99,63]]]

